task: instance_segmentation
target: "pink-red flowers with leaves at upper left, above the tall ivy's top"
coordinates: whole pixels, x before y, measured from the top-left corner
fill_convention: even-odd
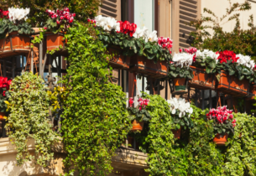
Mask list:
[[[50,10],[47,9],[46,13],[49,18],[44,25],[44,30],[51,31],[53,33],[65,32],[67,28],[70,28],[76,17],[76,13],[71,13],[69,8],[62,10]]]

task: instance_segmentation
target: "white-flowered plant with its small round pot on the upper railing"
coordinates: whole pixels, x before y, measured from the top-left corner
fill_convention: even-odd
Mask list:
[[[181,50],[180,50],[181,51]],[[193,54],[180,52],[174,54],[173,62],[170,62],[170,79],[173,80],[174,91],[172,94],[184,94],[187,92],[187,80],[191,80],[194,75],[190,68],[193,63]]]

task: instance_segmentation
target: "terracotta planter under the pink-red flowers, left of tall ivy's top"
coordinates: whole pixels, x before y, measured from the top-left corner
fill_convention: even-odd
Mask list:
[[[55,49],[55,54],[67,54],[67,51],[65,50],[67,39],[63,39],[63,33],[54,34],[48,32],[44,34],[44,36],[46,36],[46,47],[48,51]]]

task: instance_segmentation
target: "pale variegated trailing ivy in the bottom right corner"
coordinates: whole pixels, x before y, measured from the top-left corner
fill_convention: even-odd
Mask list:
[[[234,114],[237,119],[234,136],[227,142],[226,175],[256,174],[256,121],[254,116]]]

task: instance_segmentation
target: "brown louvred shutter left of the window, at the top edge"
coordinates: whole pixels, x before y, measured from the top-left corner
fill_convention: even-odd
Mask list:
[[[121,20],[121,0],[103,0],[99,14]]]

